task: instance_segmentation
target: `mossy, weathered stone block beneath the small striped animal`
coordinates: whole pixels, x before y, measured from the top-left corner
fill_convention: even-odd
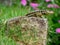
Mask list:
[[[46,45],[47,19],[15,17],[7,20],[6,34],[20,45]]]

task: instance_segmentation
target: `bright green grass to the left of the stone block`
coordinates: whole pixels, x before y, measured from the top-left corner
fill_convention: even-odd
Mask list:
[[[5,22],[13,17],[24,16],[28,12],[26,8],[21,8],[21,6],[7,7],[0,5],[0,45],[17,45],[13,39],[5,35]]]

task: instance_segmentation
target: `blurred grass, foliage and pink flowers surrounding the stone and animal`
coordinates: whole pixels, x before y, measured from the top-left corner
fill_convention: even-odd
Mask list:
[[[35,10],[54,11],[54,14],[46,16],[49,25],[47,45],[60,45],[60,0],[0,0],[0,45],[16,45],[5,36],[5,21]]]

